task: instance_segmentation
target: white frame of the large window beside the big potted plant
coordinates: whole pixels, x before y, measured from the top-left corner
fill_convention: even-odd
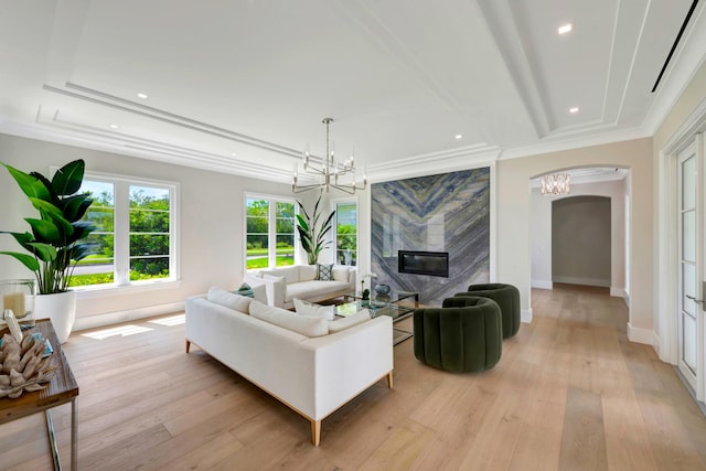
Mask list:
[[[57,168],[54,170],[58,170]],[[163,287],[179,283],[180,271],[180,184],[178,182],[129,176],[104,172],[85,172],[84,182],[110,183],[114,188],[114,282],[72,287],[76,291],[98,291],[126,288]],[[169,277],[130,280],[130,186],[147,186],[169,191]]]

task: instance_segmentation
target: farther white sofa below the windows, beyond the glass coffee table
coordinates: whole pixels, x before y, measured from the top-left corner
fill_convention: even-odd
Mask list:
[[[290,265],[247,274],[245,282],[265,286],[268,304],[290,309],[295,298],[318,302],[355,291],[355,267],[333,265],[331,271],[324,281],[317,279],[315,265]]]

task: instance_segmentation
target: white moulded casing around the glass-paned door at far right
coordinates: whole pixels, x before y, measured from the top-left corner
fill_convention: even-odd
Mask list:
[[[706,99],[702,100],[692,115],[682,124],[682,126],[672,135],[665,146],[659,152],[659,161],[656,163],[657,171],[657,201],[655,203],[657,211],[657,257],[656,257],[656,277],[655,277],[655,301],[657,308],[655,329],[655,346],[660,358],[672,365],[678,362],[678,319],[674,313],[678,307],[678,278],[675,276],[678,269],[678,154],[688,148],[694,140],[697,140],[696,151],[704,158],[704,137],[706,132]],[[699,136],[700,135],[700,136]],[[699,136],[697,138],[697,136]],[[706,175],[698,175],[698,184],[704,188]],[[706,207],[706,202],[702,201],[702,205]],[[704,227],[702,227],[704,234]],[[702,253],[706,253],[702,247]],[[703,280],[699,280],[703,281]],[[700,292],[700,282],[697,286],[698,299],[704,299],[706,293]],[[702,314],[704,315],[704,314]],[[706,322],[702,322],[706,324]],[[698,332],[699,339],[706,338],[706,332],[702,329]],[[702,342],[703,343],[703,342]],[[699,358],[699,367],[704,368],[706,358]],[[698,354],[698,353],[697,353]],[[704,402],[705,381],[704,371],[697,374],[696,390],[694,392],[696,399]]]

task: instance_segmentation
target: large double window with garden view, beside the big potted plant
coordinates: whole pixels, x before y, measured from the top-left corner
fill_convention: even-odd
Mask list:
[[[176,185],[87,173],[81,190],[94,199],[84,220],[97,227],[86,240],[95,254],[79,261],[71,286],[176,279]]]

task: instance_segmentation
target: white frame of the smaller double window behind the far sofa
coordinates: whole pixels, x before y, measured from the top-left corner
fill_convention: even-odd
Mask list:
[[[268,201],[268,214],[267,214],[267,267],[264,268],[247,268],[247,201],[248,200],[267,200]],[[277,203],[291,203],[295,208],[293,213],[293,238],[295,238],[295,265],[300,264],[301,244],[299,242],[297,231],[297,214],[299,214],[299,205],[297,200],[289,196],[261,194],[261,193],[248,193],[246,192],[243,197],[243,269],[245,272],[257,272],[259,270],[267,270],[277,267]]]

